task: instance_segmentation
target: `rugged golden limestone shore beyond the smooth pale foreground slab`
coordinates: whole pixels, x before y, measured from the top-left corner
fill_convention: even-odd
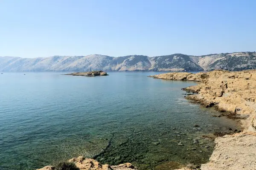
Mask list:
[[[197,94],[186,96],[206,107],[214,106],[219,111],[232,114],[250,115],[251,126],[256,126],[256,70],[224,71],[215,70],[207,73],[166,73],[150,76],[157,79],[186,80],[201,82],[184,88]]]

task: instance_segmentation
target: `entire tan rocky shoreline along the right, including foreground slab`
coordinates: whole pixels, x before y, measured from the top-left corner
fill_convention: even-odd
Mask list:
[[[254,170],[256,167],[256,71],[223,71],[207,73],[167,73],[149,76],[200,82],[184,88],[192,94],[186,99],[207,108],[214,107],[224,115],[244,119],[244,131],[215,139],[215,150],[201,170]]]

